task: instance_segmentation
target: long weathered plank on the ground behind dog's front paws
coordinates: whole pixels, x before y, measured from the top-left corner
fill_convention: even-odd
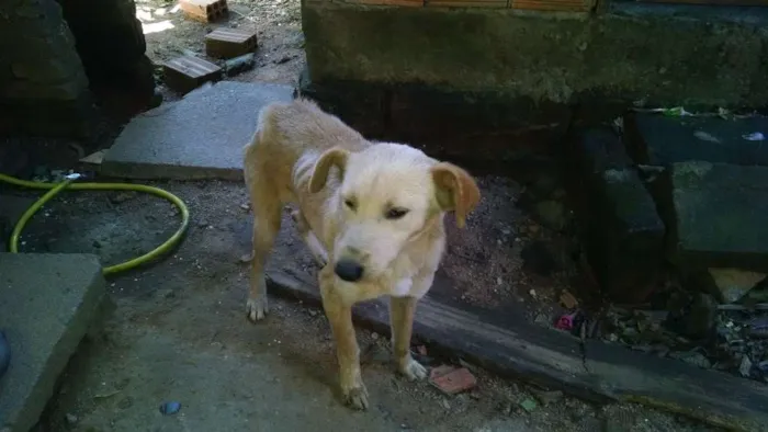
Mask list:
[[[445,282],[436,280],[439,283]],[[306,274],[272,271],[268,284],[272,293],[320,304],[319,291]],[[353,314],[355,322],[388,334],[384,302],[358,305]],[[414,334],[500,375],[591,401],[640,402],[727,430],[768,431],[764,384],[600,341],[588,340],[583,349],[569,334],[512,319],[501,328],[486,322],[482,314],[425,298]]]

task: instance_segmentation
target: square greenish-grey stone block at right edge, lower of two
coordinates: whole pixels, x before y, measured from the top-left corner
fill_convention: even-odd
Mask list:
[[[768,272],[768,167],[680,162],[670,177],[674,262]]]

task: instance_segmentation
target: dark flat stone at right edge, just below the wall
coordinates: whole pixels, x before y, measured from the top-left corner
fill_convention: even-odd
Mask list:
[[[745,139],[755,132],[768,134],[767,117],[724,120],[636,113],[628,116],[624,125],[630,154],[637,163],[669,167],[699,160],[768,166],[766,141]]]

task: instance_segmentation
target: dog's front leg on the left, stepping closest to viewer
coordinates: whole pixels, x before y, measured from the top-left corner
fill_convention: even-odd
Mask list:
[[[368,409],[368,390],[360,372],[360,349],[352,325],[352,305],[347,304],[335,286],[334,270],[326,265],[320,271],[323,308],[330,322],[336,356],[339,361],[339,378],[345,402],[354,409]]]

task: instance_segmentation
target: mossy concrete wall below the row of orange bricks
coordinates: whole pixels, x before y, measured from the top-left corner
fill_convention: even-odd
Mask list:
[[[763,8],[617,4],[592,14],[304,0],[309,75],[565,104],[768,105]]]

